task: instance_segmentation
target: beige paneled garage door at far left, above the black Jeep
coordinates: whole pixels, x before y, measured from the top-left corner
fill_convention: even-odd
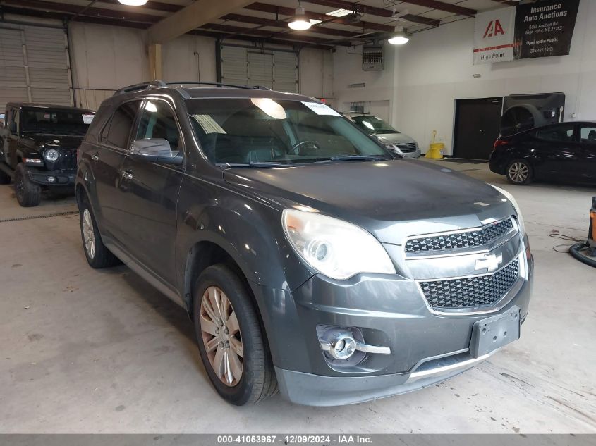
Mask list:
[[[58,28],[0,27],[0,110],[10,101],[73,105],[66,42]]]

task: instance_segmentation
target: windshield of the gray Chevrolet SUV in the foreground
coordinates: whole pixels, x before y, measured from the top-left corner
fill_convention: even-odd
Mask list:
[[[329,106],[268,98],[190,99],[188,113],[216,164],[313,163],[391,156]]]

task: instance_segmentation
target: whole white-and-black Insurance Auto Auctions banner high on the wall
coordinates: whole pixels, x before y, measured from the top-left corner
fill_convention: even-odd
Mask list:
[[[474,64],[565,56],[580,0],[539,0],[476,15]]]

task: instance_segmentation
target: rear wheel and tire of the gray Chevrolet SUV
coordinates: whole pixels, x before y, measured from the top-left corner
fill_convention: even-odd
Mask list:
[[[83,240],[83,251],[91,268],[109,268],[121,264],[118,257],[114,256],[102,242],[102,236],[99,235],[95,216],[87,199],[83,199],[80,206],[80,235]]]

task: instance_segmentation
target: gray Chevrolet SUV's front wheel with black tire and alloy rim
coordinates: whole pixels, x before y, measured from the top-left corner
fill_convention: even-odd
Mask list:
[[[271,354],[245,284],[224,264],[197,280],[193,307],[201,359],[214,388],[242,406],[277,392]]]

